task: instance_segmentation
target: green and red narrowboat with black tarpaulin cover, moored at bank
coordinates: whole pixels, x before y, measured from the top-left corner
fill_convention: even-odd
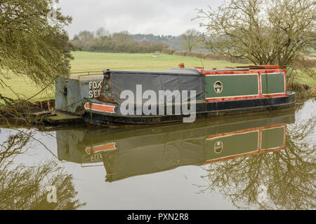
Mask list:
[[[286,69],[275,65],[226,69],[103,71],[98,99],[86,99],[91,125],[143,125],[289,109]]]

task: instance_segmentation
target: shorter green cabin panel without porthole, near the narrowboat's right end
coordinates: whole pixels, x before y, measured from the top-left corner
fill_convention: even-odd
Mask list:
[[[284,93],[284,73],[261,74],[262,94]]]

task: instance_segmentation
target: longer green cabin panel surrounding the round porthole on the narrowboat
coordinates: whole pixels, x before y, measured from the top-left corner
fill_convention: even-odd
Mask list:
[[[223,84],[223,91],[219,94],[213,89],[216,81]],[[258,75],[206,76],[205,91],[206,98],[258,95]]]

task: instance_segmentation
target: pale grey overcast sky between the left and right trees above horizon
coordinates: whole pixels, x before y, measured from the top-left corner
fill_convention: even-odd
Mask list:
[[[196,8],[207,10],[222,0],[60,0],[62,13],[72,16],[70,37],[105,27],[111,33],[179,35],[199,28]]]

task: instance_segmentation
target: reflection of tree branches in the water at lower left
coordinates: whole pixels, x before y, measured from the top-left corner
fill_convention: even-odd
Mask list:
[[[46,160],[37,165],[14,165],[17,155],[27,152],[33,131],[18,131],[0,143],[0,209],[78,209],[73,176],[58,163]],[[47,186],[55,186],[57,203],[48,203]]]

